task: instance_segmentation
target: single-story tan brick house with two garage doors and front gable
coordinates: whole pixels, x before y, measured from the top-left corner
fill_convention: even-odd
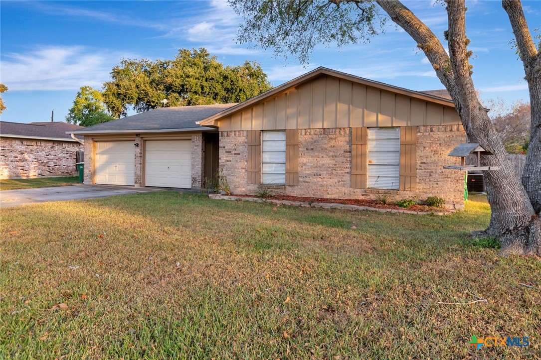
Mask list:
[[[463,172],[444,169],[465,142],[450,99],[327,68],[239,104],[161,108],[74,133],[85,183],[199,188],[219,166],[233,194],[464,204]]]

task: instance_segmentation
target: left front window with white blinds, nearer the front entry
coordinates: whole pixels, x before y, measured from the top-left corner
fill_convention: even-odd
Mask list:
[[[286,183],[286,131],[263,131],[261,149],[261,183]]]

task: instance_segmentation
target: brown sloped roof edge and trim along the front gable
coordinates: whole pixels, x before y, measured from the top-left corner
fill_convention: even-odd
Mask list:
[[[370,80],[370,79],[366,79],[364,77],[359,77],[359,76],[355,76],[355,75],[351,75],[351,74],[346,74],[345,72],[332,70],[332,69],[328,69],[328,68],[324,68],[323,66],[320,66],[317,69],[309,71],[304,75],[301,75],[299,77],[294,78],[291,81],[288,81],[287,83],[283,83],[282,85],[276,86],[276,88],[273,88],[271,90],[263,92],[263,94],[260,94],[258,96],[254,96],[253,98],[248,99],[245,102],[239,103],[239,104],[237,104],[235,106],[232,106],[229,109],[225,109],[225,110],[223,110],[223,111],[221,111],[221,112],[219,112],[219,113],[217,113],[215,115],[209,116],[208,118],[201,121],[200,125],[202,125],[202,126],[205,126],[205,125],[216,126],[214,124],[214,121],[219,119],[219,118],[226,117],[226,116],[228,116],[230,114],[233,114],[233,112],[239,111],[239,110],[244,109],[244,108],[248,108],[249,106],[252,106],[252,105],[254,105],[256,103],[265,101],[268,98],[272,98],[274,96],[280,95],[283,92],[286,92],[287,90],[289,90],[291,88],[294,88],[294,87],[299,86],[301,84],[307,83],[307,82],[309,82],[309,81],[311,81],[311,80],[313,80],[313,79],[315,79],[315,78],[317,78],[317,77],[319,77],[321,75],[334,76],[334,77],[338,77],[338,78],[341,78],[341,79],[346,79],[348,81],[352,81],[352,82],[355,82],[355,83],[368,85],[368,86],[373,86],[374,88],[387,90],[387,91],[392,91],[392,92],[395,92],[397,94],[402,94],[402,95],[410,96],[410,97],[413,97],[413,98],[422,99],[424,101],[428,101],[428,102],[432,102],[432,103],[451,106],[452,108],[454,108],[454,103],[450,99],[447,99],[447,98],[443,98],[443,97],[440,97],[440,96],[434,96],[434,95],[428,94],[426,92],[414,91],[414,90],[410,90],[410,89],[400,88],[399,86],[389,85],[389,84],[386,84],[386,83],[381,83],[379,81],[373,81],[373,80]]]

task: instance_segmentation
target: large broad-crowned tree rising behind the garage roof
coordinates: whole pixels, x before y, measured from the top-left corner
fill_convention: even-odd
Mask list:
[[[114,116],[126,116],[129,108],[242,102],[272,87],[258,63],[224,66],[203,48],[181,49],[172,60],[122,59],[103,86]]]

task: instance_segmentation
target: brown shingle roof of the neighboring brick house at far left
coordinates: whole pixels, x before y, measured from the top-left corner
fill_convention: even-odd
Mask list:
[[[0,121],[0,136],[2,137],[75,141],[66,132],[80,129],[84,129],[84,126],[68,124],[63,121],[29,124]]]

